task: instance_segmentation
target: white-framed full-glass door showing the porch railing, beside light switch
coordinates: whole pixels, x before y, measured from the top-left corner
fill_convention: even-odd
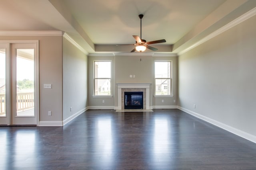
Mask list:
[[[12,44],[12,124],[34,124],[35,49],[34,44]]]

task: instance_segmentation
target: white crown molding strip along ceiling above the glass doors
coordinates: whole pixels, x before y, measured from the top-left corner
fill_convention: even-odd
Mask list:
[[[62,36],[63,31],[0,31],[0,36]]]

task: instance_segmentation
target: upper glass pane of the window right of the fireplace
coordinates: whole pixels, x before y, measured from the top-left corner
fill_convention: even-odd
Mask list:
[[[170,78],[171,77],[171,62],[155,62],[155,78]]]

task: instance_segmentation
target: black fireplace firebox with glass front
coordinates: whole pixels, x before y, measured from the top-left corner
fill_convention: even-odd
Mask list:
[[[143,92],[124,92],[124,109],[143,109]]]

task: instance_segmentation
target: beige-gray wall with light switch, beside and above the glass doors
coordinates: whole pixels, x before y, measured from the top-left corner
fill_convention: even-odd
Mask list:
[[[39,40],[39,121],[62,121],[62,36],[0,36],[1,40]],[[52,84],[44,89],[44,84]],[[52,116],[48,116],[52,111]]]

